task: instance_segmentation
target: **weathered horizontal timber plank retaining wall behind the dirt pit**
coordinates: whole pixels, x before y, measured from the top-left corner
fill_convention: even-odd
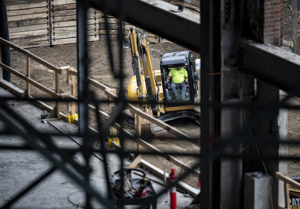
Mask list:
[[[174,5],[181,4],[184,9],[192,12],[200,12],[199,0],[165,1]],[[12,43],[23,48],[76,43],[76,0],[6,0],[6,6]],[[103,12],[88,9],[88,41],[107,39],[107,33],[112,37],[119,33],[128,37],[129,28],[133,25],[120,22],[112,16],[108,16],[107,19],[108,28]],[[148,31],[145,32],[151,43],[167,41]]]

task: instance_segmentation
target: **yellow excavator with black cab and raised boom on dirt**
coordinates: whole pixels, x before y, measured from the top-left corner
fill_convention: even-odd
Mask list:
[[[150,41],[145,32],[131,27],[128,37],[133,68],[133,76],[128,85],[129,102],[134,102],[140,110],[161,121],[190,117],[200,124],[200,109],[194,108],[198,96],[199,77],[192,53],[190,51],[164,53],[161,55],[160,69],[154,69]],[[182,89],[179,85],[176,90],[171,90],[170,83],[167,82],[169,72],[174,67],[183,67],[187,70],[188,82],[184,95],[181,95]],[[172,81],[172,77],[169,80]],[[135,127],[134,124],[138,122],[136,115],[129,110],[126,114],[131,117],[125,123]],[[151,130],[156,136],[167,134],[164,129],[146,119],[141,119],[139,123],[144,133]]]

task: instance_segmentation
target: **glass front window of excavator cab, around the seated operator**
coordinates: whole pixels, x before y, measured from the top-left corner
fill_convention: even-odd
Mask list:
[[[176,67],[176,66],[174,66]],[[188,71],[187,66],[182,66],[184,69]],[[167,81],[167,77],[170,73],[170,70],[173,68],[173,66],[169,66],[167,69],[164,69],[164,79]],[[172,83],[172,77],[170,78],[170,83],[165,82],[166,87],[166,99],[170,103],[177,103],[177,102],[190,102],[190,88],[189,83],[187,82],[185,84],[186,90],[184,92],[184,89],[182,89],[180,84],[176,84],[176,90],[171,90],[171,83]]]

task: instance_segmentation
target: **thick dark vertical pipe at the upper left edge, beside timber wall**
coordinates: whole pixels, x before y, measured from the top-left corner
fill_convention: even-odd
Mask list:
[[[0,37],[9,41],[8,20],[5,0],[0,0]],[[10,48],[1,44],[2,63],[10,67]],[[3,69],[3,79],[10,82],[10,72]]]

